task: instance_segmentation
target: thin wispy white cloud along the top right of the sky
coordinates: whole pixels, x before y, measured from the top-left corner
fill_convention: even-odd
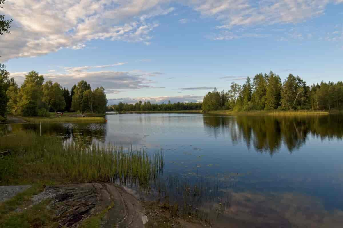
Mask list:
[[[204,16],[223,23],[217,28],[234,26],[297,23],[321,15],[330,2],[343,0],[192,0],[190,5]]]

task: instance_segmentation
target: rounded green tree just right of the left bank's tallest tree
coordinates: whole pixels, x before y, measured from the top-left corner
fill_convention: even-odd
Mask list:
[[[43,85],[43,102],[45,102],[55,112],[58,110],[64,110],[66,102],[64,101],[63,89],[60,84],[52,81],[47,81]]]

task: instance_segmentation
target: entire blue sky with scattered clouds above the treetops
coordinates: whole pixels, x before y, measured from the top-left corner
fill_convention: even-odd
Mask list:
[[[0,62],[109,104],[195,102],[272,70],[343,80],[343,0],[6,0]]]

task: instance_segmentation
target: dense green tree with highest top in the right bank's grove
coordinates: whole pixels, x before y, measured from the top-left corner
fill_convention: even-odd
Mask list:
[[[281,100],[281,79],[279,75],[269,72],[266,102],[264,109],[273,110],[280,106]]]

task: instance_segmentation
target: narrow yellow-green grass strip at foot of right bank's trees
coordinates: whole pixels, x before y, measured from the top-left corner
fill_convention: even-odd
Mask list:
[[[312,110],[299,110],[299,111],[230,111],[218,110],[206,112],[209,114],[229,115],[229,116],[305,116],[305,115],[329,115],[328,111],[312,111]]]

